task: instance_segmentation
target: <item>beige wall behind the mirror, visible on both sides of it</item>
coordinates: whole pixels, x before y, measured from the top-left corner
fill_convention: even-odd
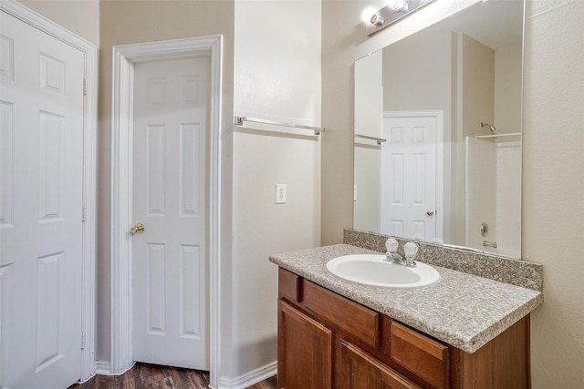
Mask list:
[[[322,241],[351,225],[352,63],[423,28],[426,8],[367,38],[360,12],[373,2],[323,1]],[[434,3],[435,18],[474,2]],[[434,11],[433,11],[434,12]],[[534,388],[584,386],[584,2],[527,2],[522,251],[544,265],[545,302],[532,314]],[[419,18],[420,20],[416,19]],[[417,23],[414,23],[417,22]],[[342,109],[339,109],[342,107]],[[332,132],[332,131],[331,131]]]

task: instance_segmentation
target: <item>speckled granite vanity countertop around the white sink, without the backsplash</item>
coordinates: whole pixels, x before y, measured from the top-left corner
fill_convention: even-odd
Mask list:
[[[440,282],[416,289],[361,285],[327,271],[327,262],[335,257],[368,253],[380,254],[336,244],[272,255],[270,261],[466,353],[474,353],[543,302],[539,291],[433,265]]]

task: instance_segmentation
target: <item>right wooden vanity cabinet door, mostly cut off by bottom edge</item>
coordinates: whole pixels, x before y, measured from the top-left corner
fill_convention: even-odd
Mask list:
[[[420,388],[354,344],[340,342],[339,389]]]

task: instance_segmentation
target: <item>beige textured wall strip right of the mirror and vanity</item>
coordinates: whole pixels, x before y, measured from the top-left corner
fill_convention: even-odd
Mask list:
[[[584,387],[584,2],[527,3],[522,250],[544,265],[534,389]]]

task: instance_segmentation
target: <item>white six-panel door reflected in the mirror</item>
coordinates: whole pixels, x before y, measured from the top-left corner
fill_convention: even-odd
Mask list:
[[[436,119],[383,118],[381,233],[436,236]]]

